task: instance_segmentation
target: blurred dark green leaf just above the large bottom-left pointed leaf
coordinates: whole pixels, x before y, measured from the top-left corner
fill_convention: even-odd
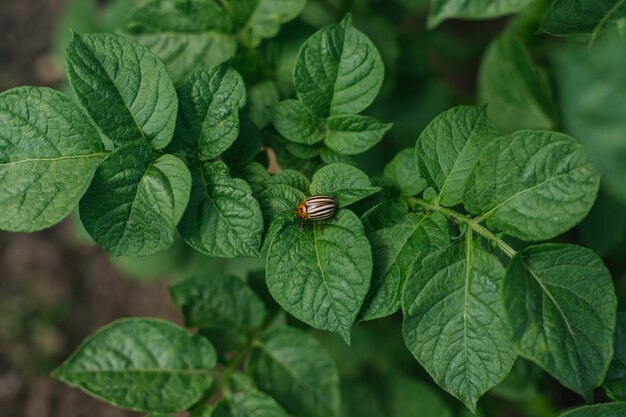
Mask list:
[[[263,324],[263,302],[241,279],[220,274],[196,276],[170,287],[185,326],[232,330],[246,335]]]

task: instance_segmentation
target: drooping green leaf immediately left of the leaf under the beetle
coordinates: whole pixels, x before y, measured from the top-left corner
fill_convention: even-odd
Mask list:
[[[222,162],[192,171],[187,211],[178,225],[192,248],[206,255],[259,256],[263,217],[247,182],[231,178]]]

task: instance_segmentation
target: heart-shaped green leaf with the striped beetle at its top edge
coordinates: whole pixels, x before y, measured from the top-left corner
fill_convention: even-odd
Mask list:
[[[370,284],[370,244],[349,210],[339,210],[323,227],[302,230],[295,222],[284,223],[269,246],[267,286],[288,313],[349,343]]]

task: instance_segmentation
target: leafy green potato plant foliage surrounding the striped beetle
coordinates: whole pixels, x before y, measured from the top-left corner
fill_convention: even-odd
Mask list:
[[[431,0],[429,29],[517,15],[483,55],[477,100],[410,127],[398,149],[384,138],[411,109],[375,103],[402,88],[405,51],[394,62],[360,19],[422,6],[351,14],[349,3],[142,2],[119,31],[72,33],[72,98],[0,94],[3,230],[78,209],[111,258],[183,241],[265,265],[250,279],[216,267],[175,282],[193,331],[115,321],[53,375],[152,416],[366,415],[346,401],[328,335],[308,328],[359,349],[354,327],[390,317],[425,382],[398,374],[367,415],[495,416],[479,399],[516,378],[532,385],[533,372],[589,404],[563,417],[626,415],[626,316],[601,256],[572,237],[591,233],[606,255],[613,244],[597,242],[614,235],[577,225],[600,187],[626,202],[626,5]],[[335,201],[332,219],[297,219],[312,195]]]

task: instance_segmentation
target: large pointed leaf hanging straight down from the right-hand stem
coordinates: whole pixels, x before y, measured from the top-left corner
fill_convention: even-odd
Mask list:
[[[406,284],[402,334],[443,389],[472,411],[515,361],[500,288],[504,268],[471,240],[443,249]]]

